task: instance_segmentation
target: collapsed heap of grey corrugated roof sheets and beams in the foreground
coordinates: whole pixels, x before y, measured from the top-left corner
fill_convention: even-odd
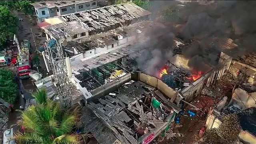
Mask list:
[[[91,132],[100,144],[112,144],[116,137],[137,144],[144,135],[155,135],[174,112],[180,112],[180,108],[161,92],[143,82],[131,81],[116,92],[88,102],[81,121],[84,133]]]

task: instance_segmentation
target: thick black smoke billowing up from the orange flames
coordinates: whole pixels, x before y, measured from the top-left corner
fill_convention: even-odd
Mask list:
[[[156,13],[161,10],[161,6],[177,5],[173,1],[161,4],[153,6],[155,8],[151,11],[153,20],[155,20]],[[207,71],[206,65],[216,66],[220,52],[225,51],[220,41],[226,38],[233,39],[238,45],[238,48],[233,50],[236,55],[256,52],[254,46],[256,42],[256,1],[216,1],[210,5],[192,2],[184,5],[176,11],[183,21],[183,27],[177,32],[179,32],[178,38],[182,39],[186,45],[182,48],[182,55],[189,59],[188,65],[191,68]],[[137,59],[139,69],[146,69],[146,73],[155,75],[174,54],[173,38],[175,35],[176,31],[173,27],[152,30],[148,34],[150,42],[143,46],[146,49]]]

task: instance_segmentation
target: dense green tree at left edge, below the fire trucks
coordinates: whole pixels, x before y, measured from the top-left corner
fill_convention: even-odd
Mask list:
[[[18,85],[14,76],[12,71],[0,68],[0,97],[10,104],[18,100]]]

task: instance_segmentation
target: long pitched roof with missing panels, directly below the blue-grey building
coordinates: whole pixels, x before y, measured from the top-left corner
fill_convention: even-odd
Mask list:
[[[127,25],[132,20],[137,20],[150,14],[150,12],[136,4],[117,4],[48,18],[45,21],[52,22],[52,24],[44,26],[43,29],[56,39],[74,36],[83,32],[88,32],[89,35],[92,35]]]

